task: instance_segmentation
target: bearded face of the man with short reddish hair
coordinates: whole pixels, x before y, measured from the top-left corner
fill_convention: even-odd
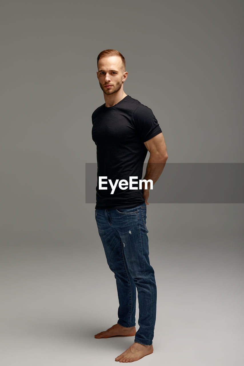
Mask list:
[[[99,59],[97,78],[105,94],[110,95],[119,91],[127,78],[121,57],[109,56]]]

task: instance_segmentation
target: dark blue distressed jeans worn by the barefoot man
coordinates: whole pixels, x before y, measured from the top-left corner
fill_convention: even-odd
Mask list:
[[[146,203],[126,209],[95,210],[98,233],[109,268],[115,274],[119,297],[118,324],[135,326],[136,288],[139,329],[135,342],[153,343],[157,287],[149,262]]]

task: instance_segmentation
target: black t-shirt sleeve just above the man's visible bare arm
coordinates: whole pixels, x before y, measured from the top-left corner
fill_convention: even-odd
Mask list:
[[[142,142],[150,140],[162,132],[152,110],[146,105],[139,105],[133,113],[132,123]]]

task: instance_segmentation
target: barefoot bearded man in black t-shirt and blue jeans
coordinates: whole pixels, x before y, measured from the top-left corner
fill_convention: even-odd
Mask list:
[[[92,138],[97,145],[98,165],[95,219],[109,268],[115,274],[119,320],[95,338],[135,336],[134,344],[115,358],[119,362],[132,362],[153,352],[157,288],[149,262],[146,228],[149,187],[145,182],[141,189],[135,184],[128,187],[126,182],[131,177],[141,179],[148,150],[150,158],[144,179],[151,179],[154,184],[164,169],[168,154],[151,109],[124,92],[128,74],[124,56],[113,49],[104,50],[97,57],[97,66],[105,104],[92,114]]]

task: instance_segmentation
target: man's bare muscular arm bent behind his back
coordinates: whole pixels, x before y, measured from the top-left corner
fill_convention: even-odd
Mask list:
[[[166,160],[168,159],[168,154],[162,132],[154,136],[150,140],[144,142],[144,145],[150,152],[150,157],[147,163],[146,174],[143,179],[151,179],[154,184],[160,177],[165,167]],[[144,191],[143,197],[145,198],[145,203],[146,205],[149,205],[149,203],[147,202],[147,199],[149,197],[149,190],[145,189],[144,183],[142,184],[142,188]]]

